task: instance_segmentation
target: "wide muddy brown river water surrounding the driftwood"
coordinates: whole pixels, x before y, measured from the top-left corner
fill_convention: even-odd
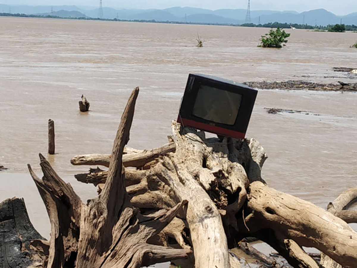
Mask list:
[[[46,238],[50,225],[30,163],[38,153],[83,200],[96,189],[76,182],[86,166],[77,154],[110,153],[133,88],[140,87],[129,146],[159,147],[177,118],[188,73],[245,81],[305,79],[355,82],[332,67],[357,68],[357,33],[286,30],[283,49],[257,48],[268,29],[208,25],[0,18],[0,201],[24,197],[31,222]],[[197,33],[203,48],[197,48]],[[84,94],[89,113],[80,113]],[[268,114],[265,107],[309,114]],[[312,114],[320,114],[312,115]],[[55,121],[56,154],[47,155],[47,121]],[[260,90],[247,137],[268,154],[263,178],[280,191],[326,208],[357,186],[357,95]]]

